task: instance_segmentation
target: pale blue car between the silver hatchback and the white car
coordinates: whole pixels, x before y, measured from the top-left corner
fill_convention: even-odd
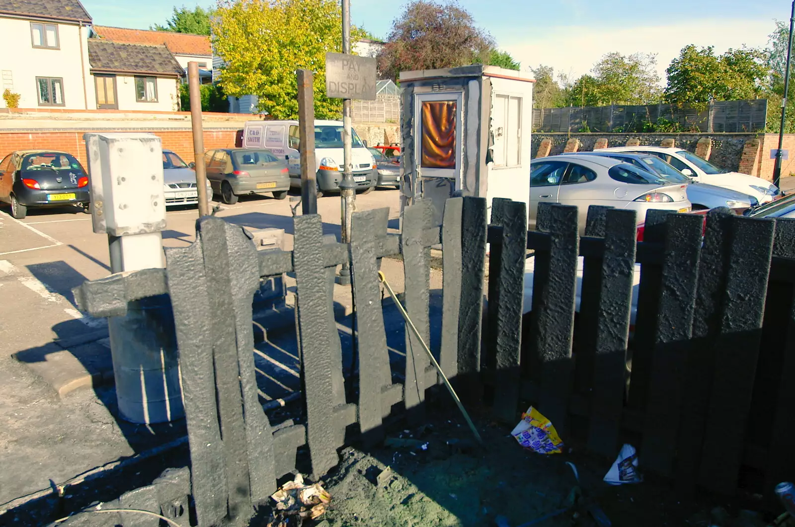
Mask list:
[[[688,184],[688,200],[692,203],[694,211],[715,207],[728,207],[733,209],[737,214],[742,214],[746,209],[755,207],[759,204],[754,196],[749,196],[729,188],[718,187],[706,183],[696,183],[688,176],[684,176],[682,172],[673,168],[673,165],[669,165],[669,163],[663,161],[661,157],[653,156],[648,153],[603,152],[602,150],[598,150],[595,152],[582,152],[579,153],[579,155],[613,157],[631,163],[640,169],[648,170],[673,184]]]

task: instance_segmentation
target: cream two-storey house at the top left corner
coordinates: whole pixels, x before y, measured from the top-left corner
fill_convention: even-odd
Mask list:
[[[21,108],[95,108],[86,89],[90,26],[78,0],[0,0],[0,92],[20,95]]]

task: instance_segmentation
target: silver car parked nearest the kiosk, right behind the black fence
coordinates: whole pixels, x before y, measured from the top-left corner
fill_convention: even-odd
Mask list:
[[[646,170],[607,156],[564,154],[530,161],[529,229],[536,228],[538,203],[576,205],[580,209],[580,234],[590,205],[633,209],[638,223],[646,211],[665,209],[688,212],[687,184],[670,184]]]

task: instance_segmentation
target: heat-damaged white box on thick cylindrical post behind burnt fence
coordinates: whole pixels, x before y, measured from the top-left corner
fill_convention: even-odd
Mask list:
[[[153,134],[85,134],[94,232],[107,233],[111,271],[162,268],[163,151]],[[184,417],[167,295],[127,304],[108,320],[118,410],[134,423]]]

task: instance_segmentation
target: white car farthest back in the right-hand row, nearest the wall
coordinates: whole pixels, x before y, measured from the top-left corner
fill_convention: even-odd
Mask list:
[[[731,188],[754,196],[759,203],[772,201],[781,194],[776,185],[761,177],[749,176],[741,172],[719,169],[709,161],[681,148],[662,148],[661,146],[617,146],[599,150],[600,152],[650,153],[673,165],[673,168],[692,178],[697,183],[707,183],[723,188]]]

